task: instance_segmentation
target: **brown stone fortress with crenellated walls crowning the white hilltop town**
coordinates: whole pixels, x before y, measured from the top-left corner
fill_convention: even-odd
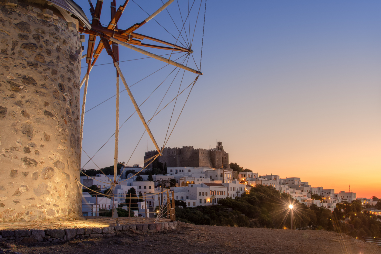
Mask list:
[[[229,153],[225,152],[222,142],[217,142],[217,147],[213,149],[194,149],[193,146],[165,147],[162,148],[163,155],[158,157],[159,162],[166,163],[168,168],[178,167],[208,167],[208,168],[229,168]],[[144,161],[157,155],[157,151],[146,152]],[[151,160],[144,163],[147,166]]]

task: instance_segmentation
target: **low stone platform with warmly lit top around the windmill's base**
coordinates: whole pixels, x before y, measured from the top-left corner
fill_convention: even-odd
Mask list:
[[[175,229],[178,222],[155,218],[119,218],[87,217],[86,220],[72,220],[62,222],[12,222],[0,224],[0,242],[16,241],[23,244],[37,242],[58,243],[69,239],[111,237],[126,232],[164,231]]]

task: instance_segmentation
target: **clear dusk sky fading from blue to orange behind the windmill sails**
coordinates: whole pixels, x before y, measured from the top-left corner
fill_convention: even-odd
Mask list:
[[[122,5],[117,1],[117,6]],[[135,2],[149,14],[161,5],[160,0]],[[90,18],[88,2],[77,3]],[[187,8],[187,3],[179,1],[181,8]],[[199,0],[196,5],[198,10]],[[203,5],[192,45],[198,65]],[[104,2],[103,6],[101,23],[108,24],[109,4]],[[132,0],[127,9],[119,28],[147,17]],[[379,1],[209,0],[202,54],[204,75],[194,86],[166,146],[209,149],[218,140],[223,142],[230,161],[260,175],[301,177],[312,187],[323,186],[335,192],[348,191],[351,184],[357,197],[381,197],[380,10]],[[169,11],[176,21],[176,1]],[[168,13],[155,19],[178,36]],[[194,26],[193,16],[191,24]],[[176,42],[154,21],[137,32]],[[120,49],[120,61],[141,57]],[[175,54],[171,59],[177,57]],[[97,64],[109,62],[110,57],[103,52]],[[129,85],[164,65],[154,59],[120,63]],[[188,65],[195,68],[192,58]],[[131,91],[138,103],[172,70],[171,66],[165,67],[133,86]],[[195,77],[186,73],[181,87]],[[165,104],[176,96],[179,82],[179,78],[174,81]],[[142,106],[146,119],[155,112],[169,83]],[[188,93],[189,89],[179,96],[171,128]],[[112,64],[95,66],[90,74],[86,110],[114,94]],[[122,124],[133,106],[126,92],[120,98]],[[173,104],[150,125],[159,146],[163,145],[172,109]],[[92,156],[115,131],[115,97],[86,113],[84,129],[83,148]],[[143,131],[135,115],[120,129],[119,161],[129,160]],[[153,150],[154,145],[144,134],[128,165],[142,165],[147,149]],[[114,138],[93,160],[104,167],[113,165],[113,158]],[[82,153],[82,166],[87,161]],[[96,166],[90,162],[85,168]]]

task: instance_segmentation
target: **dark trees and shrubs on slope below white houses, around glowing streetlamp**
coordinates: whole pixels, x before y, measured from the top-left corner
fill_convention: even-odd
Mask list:
[[[291,228],[288,205],[293,202],[294,229],[325,229],[354,237],[381,237],[381,218],[363,211],[358,200],[338,204],[331,212],[314,204],[307,207],[295,203],[290,195],[263,185],[251,188],[240,197],[219,200],[215,206],[177,206],[176,219],[198,225]]]

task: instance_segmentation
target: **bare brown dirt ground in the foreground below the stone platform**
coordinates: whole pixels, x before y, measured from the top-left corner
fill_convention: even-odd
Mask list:
[[[381,253],[381,248],[344,234],[312,230],[213,227],[179,222],[176,230],[131,232],[112,238],[72,240],[35,246],[0,244],[1,253],[146,254],[146,253]],[[6,249],[6,247],[11,247]],[[2,252],[3,251],[3,252]]]

